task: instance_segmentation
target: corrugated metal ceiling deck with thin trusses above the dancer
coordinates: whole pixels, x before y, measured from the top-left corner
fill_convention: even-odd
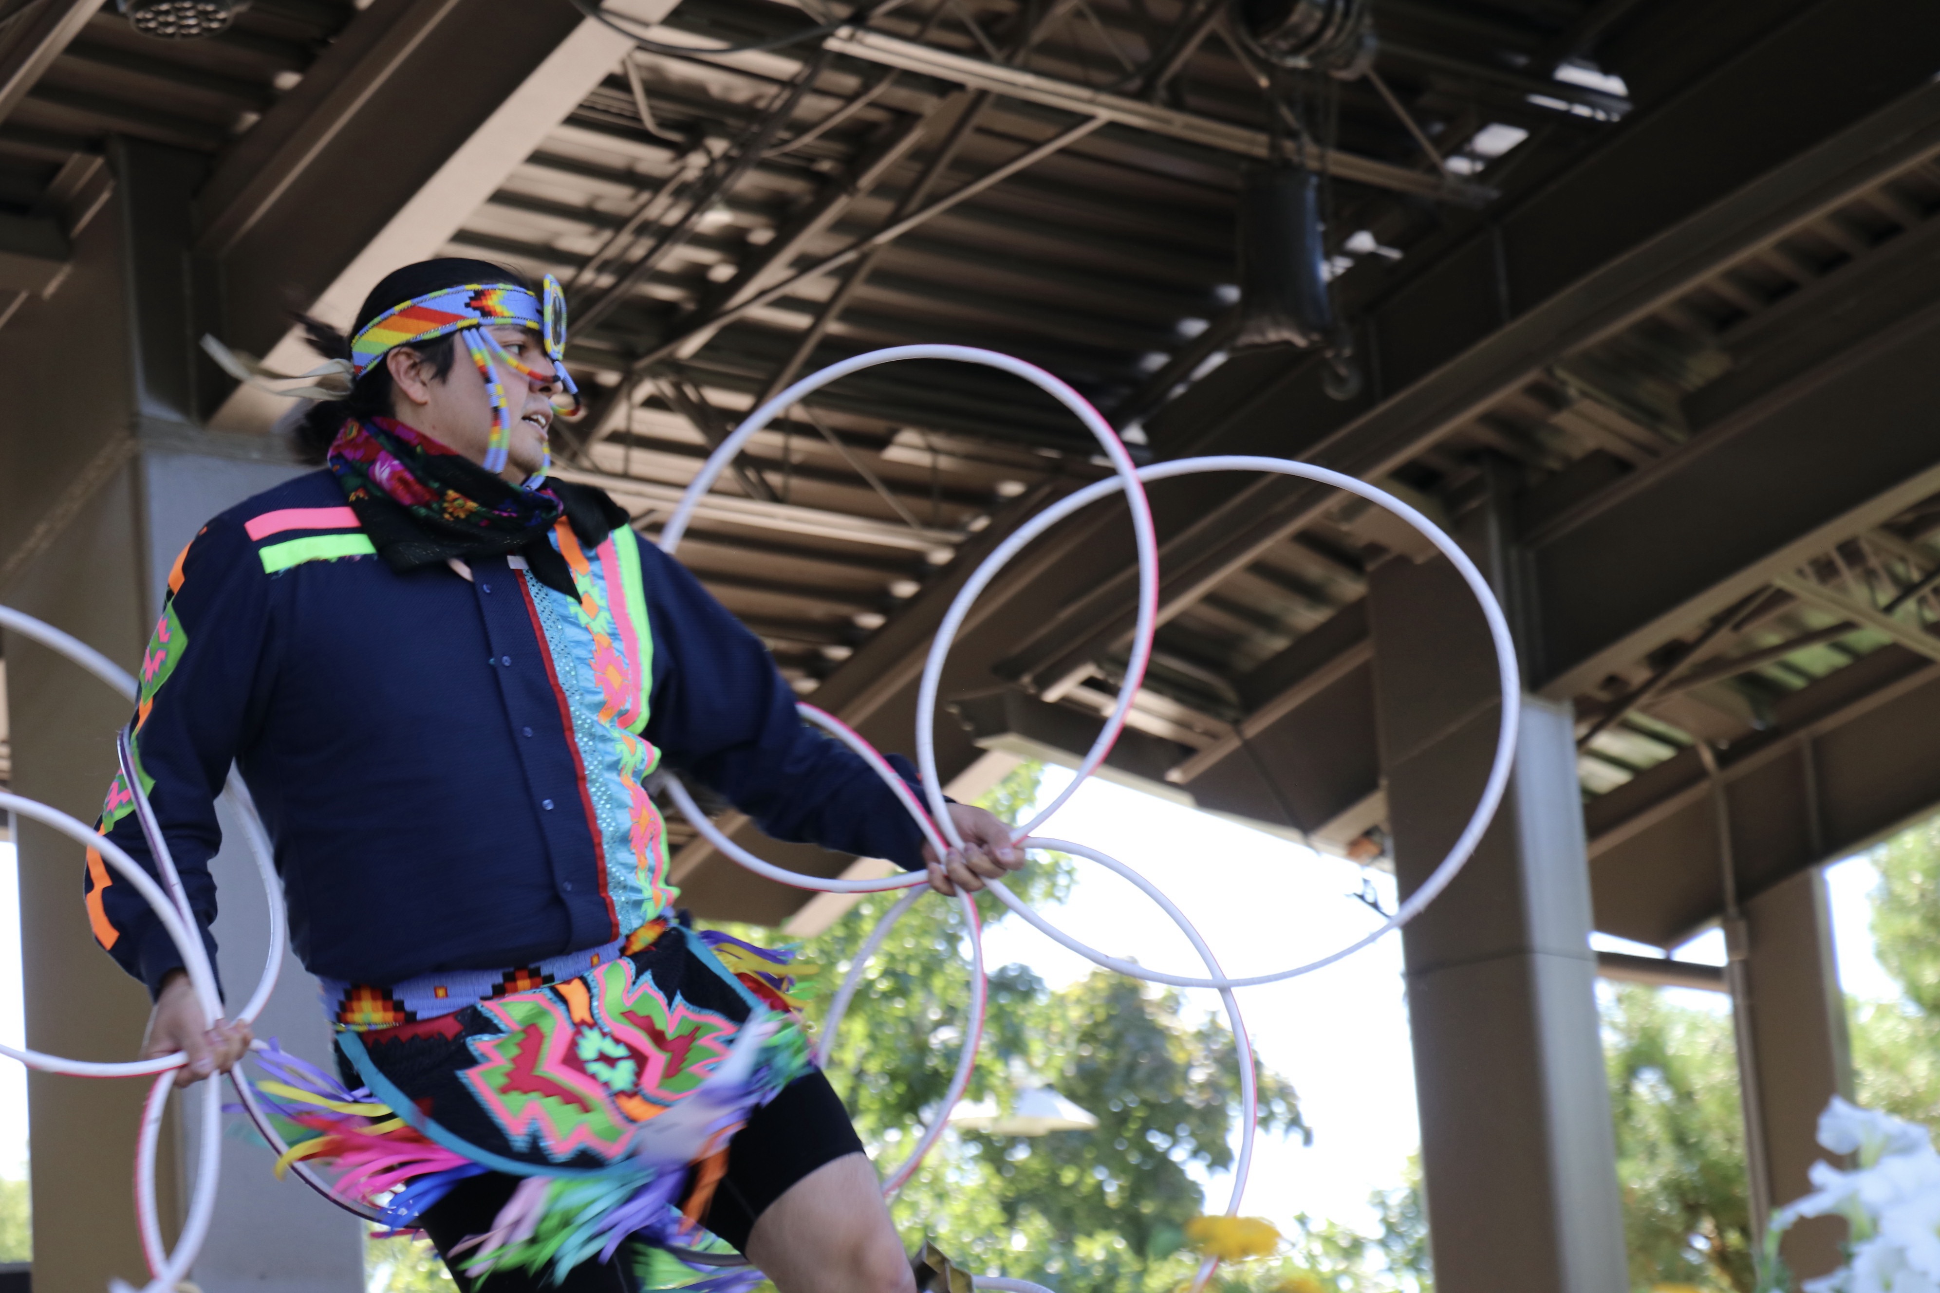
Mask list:
[[[1342,293],[1356,262],[1405,260],[1445,205],[1486,205],[1513,142],[1577,147],[1628,110],[1608,89],[1620,81],[1579,60],[1587,14],[1474,21],[1412,6],[1393,35],[1381,17],[1375,78],[1321,78],[1313,95],[1339,99],[1325,165],[1341,173],[1329,250]],[[607,394],[582,479],[638,506],[648,533],[735,417],[792,376],[898,341],[1030,359],[1137,442],[1152,411],[1224,363],[1236,330],[1232,211],[1273,122],[1222,19],[1205,2],[910,6],[821,52],[712,54],[813,17],[683,4],[648,33],[667,48],[630,54],[444,250],[570,285],[572,361]],[[1568,62],[1569,79],[1505,70],[1529,58]],[[1125,107],[1038,157],[1096,95]],[[1143,105],[1170,114],[1164,132],[1139,124]],[[1034,161],[974,190],[1017,159]],[[861,269],[772,291],[958,194]],[[970,535],[1092,479],[1094,459],[1083,428],[1020,382],[947,364],[869,372],[760,436],[685,554],[813,694]],[[1244,711],[1236,682],[1360,595],[1364,547],[1323,523],[1199,599],[1168,624],[1135,725],[1187,762],[1226,741]],[[1100,677],[1061,704],[1094,715],[1108,698]]]

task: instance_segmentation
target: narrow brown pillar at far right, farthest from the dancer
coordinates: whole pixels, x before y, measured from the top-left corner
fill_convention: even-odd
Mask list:
[[[1744,927],[1738,1045],[1740,1072],[1756,1091],[1746,1101],[1746,1157],[1763,1177],[1752,1198],[1783,1208],[1812,1188],[1812,1163],[1833,1157],[1816,1138],[1820,1111],[1833,1095],[1853,1097],[1826,874],[1814,867],[1750,899]],[[1762,1229],[1763,1217],[1754,1225]],[[1812,1279],[1845,1262],[1845,1221],[1812,1217],[1785,1235],[1781,1252],[1794,1276]]]

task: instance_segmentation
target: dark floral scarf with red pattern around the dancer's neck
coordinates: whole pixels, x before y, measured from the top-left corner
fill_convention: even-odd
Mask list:
[[[520,489],[388,417],[345,421],[326,461],[371,543],[400,574],[520,554],[535,580],[578,597],[553,527],[566,520],[582,545],[598,547],[629,520],[605,490],[563,481]]]

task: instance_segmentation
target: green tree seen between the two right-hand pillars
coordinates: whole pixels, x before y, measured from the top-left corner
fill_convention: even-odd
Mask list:
[[[1632,1285],[1750,1293],[1730,1016],[1633,983],[1602,989],[1602,1006]]]

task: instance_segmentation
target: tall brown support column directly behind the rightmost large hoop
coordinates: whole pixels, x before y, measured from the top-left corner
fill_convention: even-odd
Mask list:
[[[1395,870],[1410,894],[1482,789],[1500,688],[1482,616],[1445,560],[1383,562],[1368,611]],[[1403,934],[1436,1289],[1624,1293],[1571,711],[1523,706],[1494,826]]]

